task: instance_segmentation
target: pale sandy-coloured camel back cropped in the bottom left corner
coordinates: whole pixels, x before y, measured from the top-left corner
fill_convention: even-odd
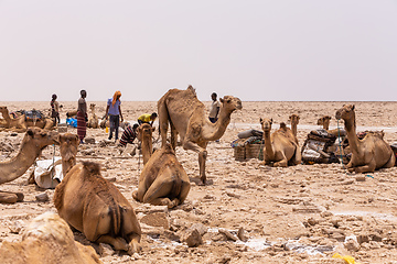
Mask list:
[[[34,218],[23,230],[21,242],[3,241],[2,264],[97,264],[95,250],[74,240],[67,223],[54,212]]]

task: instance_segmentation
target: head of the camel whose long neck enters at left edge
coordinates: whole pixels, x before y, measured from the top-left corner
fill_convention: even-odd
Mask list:
[[[47,145],[58,145],[58,133],[32,127],[26,130],[22,141],[22,145],[24,144],[35,145],[40,151]]]

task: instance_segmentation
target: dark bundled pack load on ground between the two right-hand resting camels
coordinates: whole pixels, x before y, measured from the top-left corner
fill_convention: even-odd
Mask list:
[[[324,129],[311,131],[302,146],[302,162],[304,164],[339,163],[334,153],[335,141],[336,136]]]

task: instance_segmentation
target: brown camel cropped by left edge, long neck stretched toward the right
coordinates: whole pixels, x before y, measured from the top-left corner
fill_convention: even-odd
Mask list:
[[[0,163],[0,185],[21,177],[32,166],[45,146],[57,143],[57,132],[29,128],[17,156]],[[0,191],[0,202],[13,204],[21,199],[23,200],[22,194]]]

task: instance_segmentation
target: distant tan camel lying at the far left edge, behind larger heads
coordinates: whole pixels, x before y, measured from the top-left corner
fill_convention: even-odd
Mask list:
[[[12,129],[18,132],[26,131],[28,127],[36,127],[40,129],[51,130],[54,128],[54,121],[51,118],[43,118],[39,120],[25,120],[25,114],[22,114],[15,119],[10,117],[7,107],[0,107],[0,112],[6,121],[4,128]]]

